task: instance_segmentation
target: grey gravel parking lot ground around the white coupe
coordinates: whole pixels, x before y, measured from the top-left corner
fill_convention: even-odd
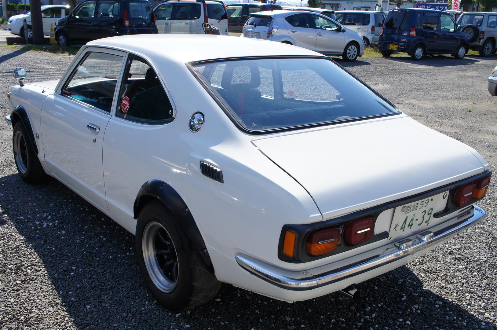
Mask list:
[[[0,90],[16,66],[28,82],[59,78],[72,56],[0,48]],[[337,60],[416,120],[476,150],[497,173],[497,97],[489,59]],[[5,98],[0,115],[8,112]],[[339,294],[288,304],[224,285],[212,302],[171,314],[150,296],[134,238],[60,183],[16,174],[12,130],[0,123],[1,329],[497,329],[496,181],[487,219],[446,244]],[[407,146],[409,147],[409,146]]]

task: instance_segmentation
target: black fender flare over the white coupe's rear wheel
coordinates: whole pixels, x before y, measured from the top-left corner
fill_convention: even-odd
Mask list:
[[[136,195],[135,204],[133,205],[133,217],[138,219],[138,215],[140,214],[142,208],[145,204],[152,200],[161,201],[169,210],[171,215],[178,220],[181,227],[193,243],[193,246],[200,253],[207,269],[214,273],[214,266],[212,265],[211,257],[205,247],[204,239],[200,234],[200,230],[195,223],[195,219],[193,219],[190,209],[186,206],[186,203],[176,192],[176,190],[174,190],[174,188],[166,182],[154,179],[145,182],[141,186],[138,194]]]

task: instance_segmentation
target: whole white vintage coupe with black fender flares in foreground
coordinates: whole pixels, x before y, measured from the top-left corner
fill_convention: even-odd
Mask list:
[[[485,217],[475,150],[304,48],[105,38],[60,81],[7,96],[19,175],[56,178],[135,234],[171,311],[221,282],[288,302],[354,293]]]

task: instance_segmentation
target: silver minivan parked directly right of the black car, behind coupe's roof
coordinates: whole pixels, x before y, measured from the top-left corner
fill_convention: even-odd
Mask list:
[[[204,33],[202,23],[209,23],[228,34],[228,14],[218,0],[166,0],[154,9],[159,33]]]

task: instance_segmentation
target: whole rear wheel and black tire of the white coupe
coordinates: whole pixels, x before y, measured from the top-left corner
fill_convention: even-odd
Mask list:
[[[221,282],[212,274],[185,231],[159,201],[145,205],[136,225],[138,264],[152,296],[180,312],[214,298]]]

